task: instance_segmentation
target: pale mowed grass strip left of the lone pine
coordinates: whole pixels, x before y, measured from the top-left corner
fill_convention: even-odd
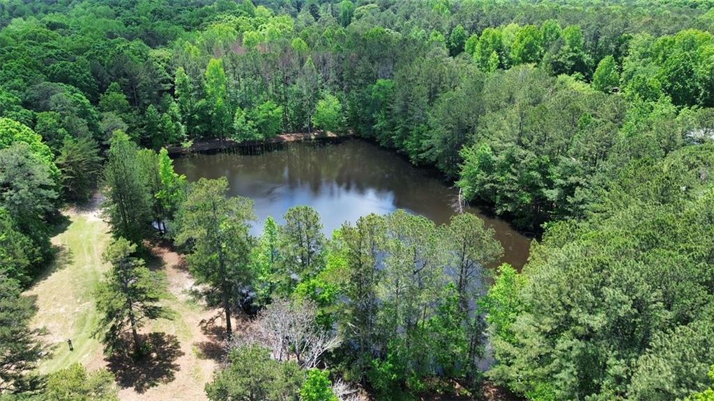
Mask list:
[[[101,254],[111,241],[109,228],[96,213],[68,213],[69,226],[52,238],[58,248],[54,265],[26,292],[36,298],[36,327],[45,328],[43,340],[54,345],[41,372],[54,372],[81,362],[94,369],[102,345],[94,337],[99,316],[94,288],[109,268]],[[72,340],[74,351],[67,340]],[[100,365],[101,366],[101,365]]]

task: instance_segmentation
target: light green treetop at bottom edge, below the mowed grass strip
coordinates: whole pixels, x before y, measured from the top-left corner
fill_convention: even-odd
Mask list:
[[[101,369],[87,372],[79,363],[47,377],[40,400],[53,401],[119,401],[114,375]]]

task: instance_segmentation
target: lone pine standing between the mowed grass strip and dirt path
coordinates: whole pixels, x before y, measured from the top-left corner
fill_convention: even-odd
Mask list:
[[[166,298],[160,276],[146,268],[144,260],[132,256],[134,253],[136,245],[124,238],[117,238],[106,248],[102,258],[111,264],[111,269],[96,289],[96,301],[101,314],[99,328],[109,352],[129,332],[134,355],[140,357],[147,350],[139,329],[147,320],[168,317],[169,311],[158,305]]]

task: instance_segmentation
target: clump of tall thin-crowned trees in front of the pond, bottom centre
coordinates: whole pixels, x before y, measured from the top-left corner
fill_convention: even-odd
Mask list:
[[[493,232],[473,215],[436,227],[398,210],[343,225],[335,241],[331,253],[346,263],[338,323],[360,352],[354,368],[381,396],[418,395],[438,378],[474,384],[483,328],[471,308],[481,264],[502,252]]]

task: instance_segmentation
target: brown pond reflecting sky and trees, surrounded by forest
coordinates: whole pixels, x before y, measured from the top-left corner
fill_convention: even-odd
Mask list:
[[[256,235],[269,215],[281,222],[295,205],[315,208],[329,236],[345,221],[396,209],[447,223],[458,203],[458,189],[448,186],[436,171],[417,168],[392,151],[359,139],[283,143],[252,154],[244,150],[198,153],[177,158],[174,166],[188,181],[226,176],[230,195],[255,202]],[[506,221],[487,217],[476,208],[466,210],[496,231],[503,244],[502,261],[523,267],[530,238]]]

